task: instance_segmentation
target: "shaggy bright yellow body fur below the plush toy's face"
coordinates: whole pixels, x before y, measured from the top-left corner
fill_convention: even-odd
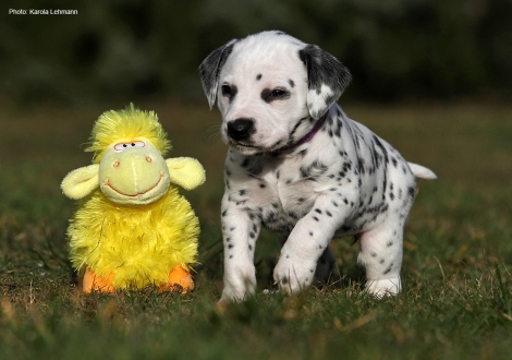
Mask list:
[[[123,206],[96,190],[71,220],[71,261],[78,272],[88,266],[115,288],[167,283],[176,265],[196,263],[199,224],[190,203],[171,184],[159,201]]]

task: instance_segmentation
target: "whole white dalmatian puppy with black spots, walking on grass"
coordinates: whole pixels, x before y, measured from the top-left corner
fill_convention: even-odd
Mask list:
[[[261,227],[282,239],[273,278],[295,293],[333,265],[332,238],[355,236],[367,290],[401,290],[403,228],[429,169],[405,161],[336,104],[351,80],[330,53],[282,32],[231,40],[199,73],[210,108],[218,99],[229,145],[221,205],[221,301],[255,291]]]

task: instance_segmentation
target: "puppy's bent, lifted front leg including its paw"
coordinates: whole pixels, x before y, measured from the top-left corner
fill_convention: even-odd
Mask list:
[[[313,283],[318,259],[352,211],[341,204],[331,196],[320,195],[312,211],[296,223],[273,271],[275,281],[285,292],[297,292]]]

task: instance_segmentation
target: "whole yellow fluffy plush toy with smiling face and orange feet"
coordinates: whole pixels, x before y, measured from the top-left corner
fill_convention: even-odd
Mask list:
[[[68,228],[84,291],[193,289],[199,223],[175,184],[194,189],[205,170],[193,158],[164,159],[169,149],[153,111],[131,105],[96,121],[86,148],[95,153],[93,165],[61,184],[66,196],[84,199]]]

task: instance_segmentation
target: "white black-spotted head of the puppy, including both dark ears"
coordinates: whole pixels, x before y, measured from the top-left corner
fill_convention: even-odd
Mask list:
[[[243,155],[303,137],[351,80],[333,56],[281,32],[229,41],[199,73],[210,108],[218,99],[222,140]]]

